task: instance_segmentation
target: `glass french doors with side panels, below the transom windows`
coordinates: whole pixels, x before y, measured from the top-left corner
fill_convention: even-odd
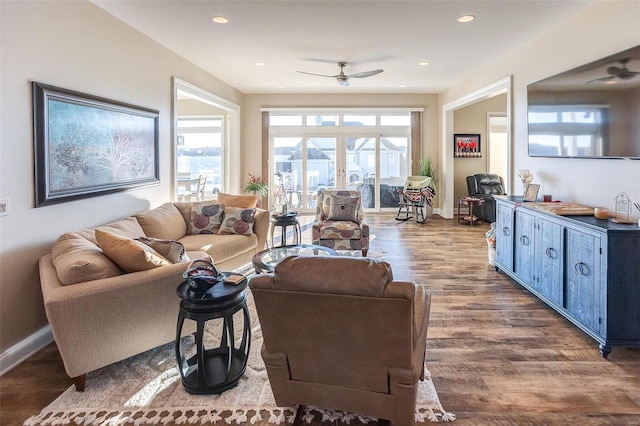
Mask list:
[[[408,137],[380,135],[274,136],[270,205],[314,212],[318,189],[346,188],[362,192],[365,209],[397,208],[410,169],[408,144]]]

